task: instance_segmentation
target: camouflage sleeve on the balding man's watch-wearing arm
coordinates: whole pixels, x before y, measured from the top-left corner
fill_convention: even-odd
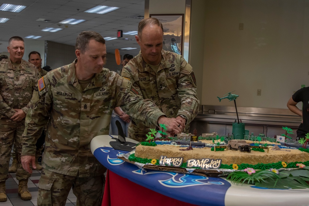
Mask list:
[[[177,116],[184,115],[187,117],[187,123],[189,123],[197,116],[200,100],[196,94],[196,80],[192,66],[183,57],[181,57],[181,70],[177,91],[181,100],[181,107]]]

